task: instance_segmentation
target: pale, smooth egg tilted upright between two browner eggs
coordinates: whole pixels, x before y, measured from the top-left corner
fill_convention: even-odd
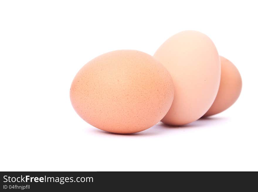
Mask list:
[[[174,101],[161,120],[184,125],[202,117],[211,107],[220,84],[220,58],[208,36],[183,31],[166,40],[154,57],[170,72]]]

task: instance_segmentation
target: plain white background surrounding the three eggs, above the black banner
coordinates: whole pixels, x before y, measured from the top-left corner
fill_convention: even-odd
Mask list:
[[[1,1],[1,171],[258,171],[256,1]],[[118,49],[153,55],[182,30],[208,35],[242,75],[227,111],[132,135],[72,108],[79,69]]]

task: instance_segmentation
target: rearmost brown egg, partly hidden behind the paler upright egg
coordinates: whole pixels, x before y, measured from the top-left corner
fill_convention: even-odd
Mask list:
[[[221,77],[218,94],[204,116],[220,113],[235,103],[242,89],[242,79],[235,65],[220,56]]]

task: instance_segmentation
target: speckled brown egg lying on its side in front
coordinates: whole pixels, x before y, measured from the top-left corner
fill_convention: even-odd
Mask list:
[[[96,128],[135,133],[158,123],[174,97],[172,78],[151,55],[117,50],[88,62],[75,76],[70,99]]]

